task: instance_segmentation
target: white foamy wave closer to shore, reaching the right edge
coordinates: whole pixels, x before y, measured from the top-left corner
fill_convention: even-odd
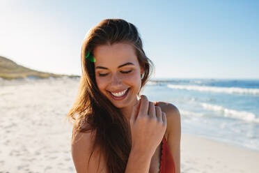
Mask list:
[[[234,119],[242,119],[244,121],[251,121],[255,123],[259,123],[259,118],[251,112],[246,112],[246,111],[237,111],[237,110],[230,110],[227,109],[226,107],[222,107],[219,105],[212,105],[208,103],[201,103],[201,106],[205,110],[212,110],[214,112],[219,112],[223,114],[225,117],[230,117]]]

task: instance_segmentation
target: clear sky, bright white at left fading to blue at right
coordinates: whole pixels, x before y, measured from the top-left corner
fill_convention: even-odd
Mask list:
[[[81,75],[82,40],[106,18],[134,24],[154,77],[259,79],[259,1],[0,1],[0,55]]]

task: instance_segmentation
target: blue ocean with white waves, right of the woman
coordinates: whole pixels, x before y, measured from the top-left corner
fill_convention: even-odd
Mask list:
[[[156,79],[143,94],[178,107],[182,133],[259,151],[259,80]]]

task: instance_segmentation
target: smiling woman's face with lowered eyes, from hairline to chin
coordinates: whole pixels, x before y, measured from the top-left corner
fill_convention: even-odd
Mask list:
[[[141,89],[143,69],[132,45],[114,43],[93,50],[95,80],[100,91],[116,107],[127,107],[136,101]]]

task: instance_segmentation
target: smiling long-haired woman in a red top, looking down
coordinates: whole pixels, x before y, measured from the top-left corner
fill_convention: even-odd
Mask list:
[[[136,27],[103,20],[81,47],[72,158],[77,173],[180,173],[180,113],[170,103],[139,98],[152,71]]]

